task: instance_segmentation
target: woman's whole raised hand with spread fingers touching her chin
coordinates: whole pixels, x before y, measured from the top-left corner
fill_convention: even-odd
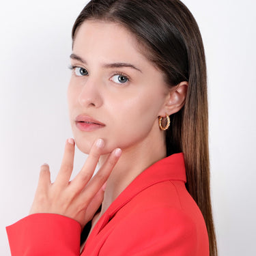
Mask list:
[[[85,165],[70,182],[74,162],[74,140],[68,139],[61,168],[54,183],[51,183],[48,165],[42,165],[38,188],[29,214],[61,214],[78,221],[83,228],[100,207],[104,196],[102,186],[122,154],[119,148],[113,150],[104,165],[92,177],[102,147],[104,147],[104,141],[98,139],[92,145]]]

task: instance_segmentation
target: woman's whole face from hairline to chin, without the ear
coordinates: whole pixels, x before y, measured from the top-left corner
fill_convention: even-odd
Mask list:
[[[162,136],[158,116],[165,115],[169,89],[134,35],[116,23],[85,21],[70,58],[68,104],[79,149],[88,153],[99,138],[104,153],[115,147],[124,152],[145,141],[154,147]]]

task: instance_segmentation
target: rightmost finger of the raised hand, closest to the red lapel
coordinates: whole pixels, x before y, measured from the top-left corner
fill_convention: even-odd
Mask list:
[[[96,193],[98,193],[100,188],[102,188],[106,180],[109,178],[109,175],[111,174],[111,171],[115,167],[121,154],[122,150],[120,150],[119,148],[115,149],[111,153],[109,158],[107,158],[106,162],[104,162],[104,165],[102,165],[96,175],[94,175],[94,177],[92,177],[92,179],[89,181],[89,183],[81,193],[82,197],[85,197],[85,203],[86,201],[90,202],[91,199],[93,199],[93,197],[96,195]]]

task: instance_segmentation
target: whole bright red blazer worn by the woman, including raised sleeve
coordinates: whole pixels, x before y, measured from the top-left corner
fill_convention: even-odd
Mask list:
[[[183,154],[141,173],[102,215],[83,256],[208,256],[203,216],[185,187]],[[12,256],[80,254],[79,223],[32,214],[7,227]]]

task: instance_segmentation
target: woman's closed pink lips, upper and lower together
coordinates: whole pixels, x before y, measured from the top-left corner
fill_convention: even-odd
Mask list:
[[[102,124],[102,122],[89,117],[88,115],[78,115],[75,122],[76,127],[83,132],[91,132],[105,126],[105,124]]]

